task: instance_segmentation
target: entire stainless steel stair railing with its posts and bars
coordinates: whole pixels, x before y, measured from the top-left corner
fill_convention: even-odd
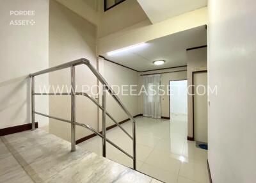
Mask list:
[[[76,72],[75,72],[75,68],[76,68],[77,65],[85,65],[86,67],[88,67],[92,71],[94,76],[96,76],[97,79],[102,84],[102,105],[100,105],[99,102],[97,102],[97,100],[93,99],[93,97],[91,97],[87,93],[76,92]],[[42,74],[47,74],[49,72],[54,72],[54,71],[61,70],[61,69],[64,69],[64,68],[70,68],[70,71],[71,71],[70,72],[70,78],[71,78],[71,91],[70,91],[70,93],[35,93],[35,77],[36,76],[39,76],[39,75],[42,75]],[[81,58],[79,60],[70,61],[68,63],[58,65],[56,67],[47,68],[45,70],[41,70],[41,71],[35,72],[33,74],[29,74],[29,76],[31,78],[31,123],[32,123],[32,130],[35,130],[35,115],[41,115],[41,116],[45,116],[45,117],[52,118],[52,119],[55,119],[55,120],[59,120],[61,122],[70,123],[71,152],[75,152],[76,151],[76,125],[79,125],[81,127],[84,127],[86,129],[88,129],[89,131],[92,131],[94,134],[97,134],[97,136],[100,136],[100,138],[102,138],[102,156],[103,157],[106,157],[106,142],[108,142],[111,145],[113,145],[113,147],[117,148],[118,150],[123,152],[125,155],[130,157],[133,161],[133,169],[136,170],[136,121],[134,120],[131,113],[129,113],[127,108],[124,106],[124,104],[121,102],[121,100],[117,97],[116,93],[112,90],[111,86],[109,86],[109,84],[106,82],[104,77],[102,77],[102,75],[97,71],[97,69],[95,67],[93,67],[92,63],[89,60],[87,60],[85,58]],[[115,99],[116,103],[121,107],[121,109],[131,119],[131,122],[132,122],[132,136],[127,131],[125,131],[125,129],[118,122],[116,122],[116,120],[108,113],[108,111],[106,111],[106,92],[108,92],[111,95],[111,97],[113,97],[113,99]],[[50,115],[43,114],[43,113],[40,113],[38,111],[35,111],[35,95],[70,95],[70,97],[71,97],[71,111],[70,111],[71,119],[67,120],[67,119],[59,118],[59,117],[56,117],[56,116],[50,116]],[[90,127],[89,125],[86,125],[83,122],[77,122],[76,121],[76,95],[83,95],[84,97],[88,97],[88,99],[92,100],[93,104],[95,104],[97,107],[99,107],[99,109],[102,110],[102,133],[98,132],[97,130],[93,129],[92,127]],[[113,120],[113,122],[116,123],[117,127],[119,127],[127,136],[129,136],[129,138],[131,138],[131,140],[132,140],[132,155],[125,152],[125,150],[118,147],[118,145],[116,145],[111,140],[106,138],[106,116],[109,116],[109,118],[111,118],[111,120]]]

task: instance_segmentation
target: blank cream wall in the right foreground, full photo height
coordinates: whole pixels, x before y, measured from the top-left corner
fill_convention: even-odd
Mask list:
[[[208,159],[214,183],[256,180],[256,1],[209,1]]]

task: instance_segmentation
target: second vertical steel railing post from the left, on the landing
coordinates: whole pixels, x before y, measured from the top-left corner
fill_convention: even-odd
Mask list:
[[[76,75],[71,65],[71,152],[76,151]]]

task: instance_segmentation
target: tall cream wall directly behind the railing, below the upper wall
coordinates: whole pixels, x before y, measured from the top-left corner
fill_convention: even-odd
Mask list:
[[[65,6],[50,1],[49,13],[49,66],[87,58],[95,67],[96,61],[96,28],[92,23],[71,12]],[[60,70],[49,74],[49,84],[70,86],[70,69]],[[76,67],[77,92],[81,86],[97,84],[96,77],[84,66]],[[93,93],[96,93],[94,88]],[[92,94],[92,92],[88,92]],[[49,111],[53,116],[70,119],[70,96],[51,96],[49,98]],[[86,97],[76,97],[76,121],[91,125],[97,129],[97,107]],[[92,134],[86,129],[76,127],[76,139]],[[49,129],[63,139],[70,140],[70,124],[57,120],[50,120]]]

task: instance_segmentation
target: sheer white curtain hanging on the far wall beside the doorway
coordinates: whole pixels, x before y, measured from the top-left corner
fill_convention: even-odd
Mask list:
[[[161,118],[160,77],[160,74],[143,76],[143,116]]]

